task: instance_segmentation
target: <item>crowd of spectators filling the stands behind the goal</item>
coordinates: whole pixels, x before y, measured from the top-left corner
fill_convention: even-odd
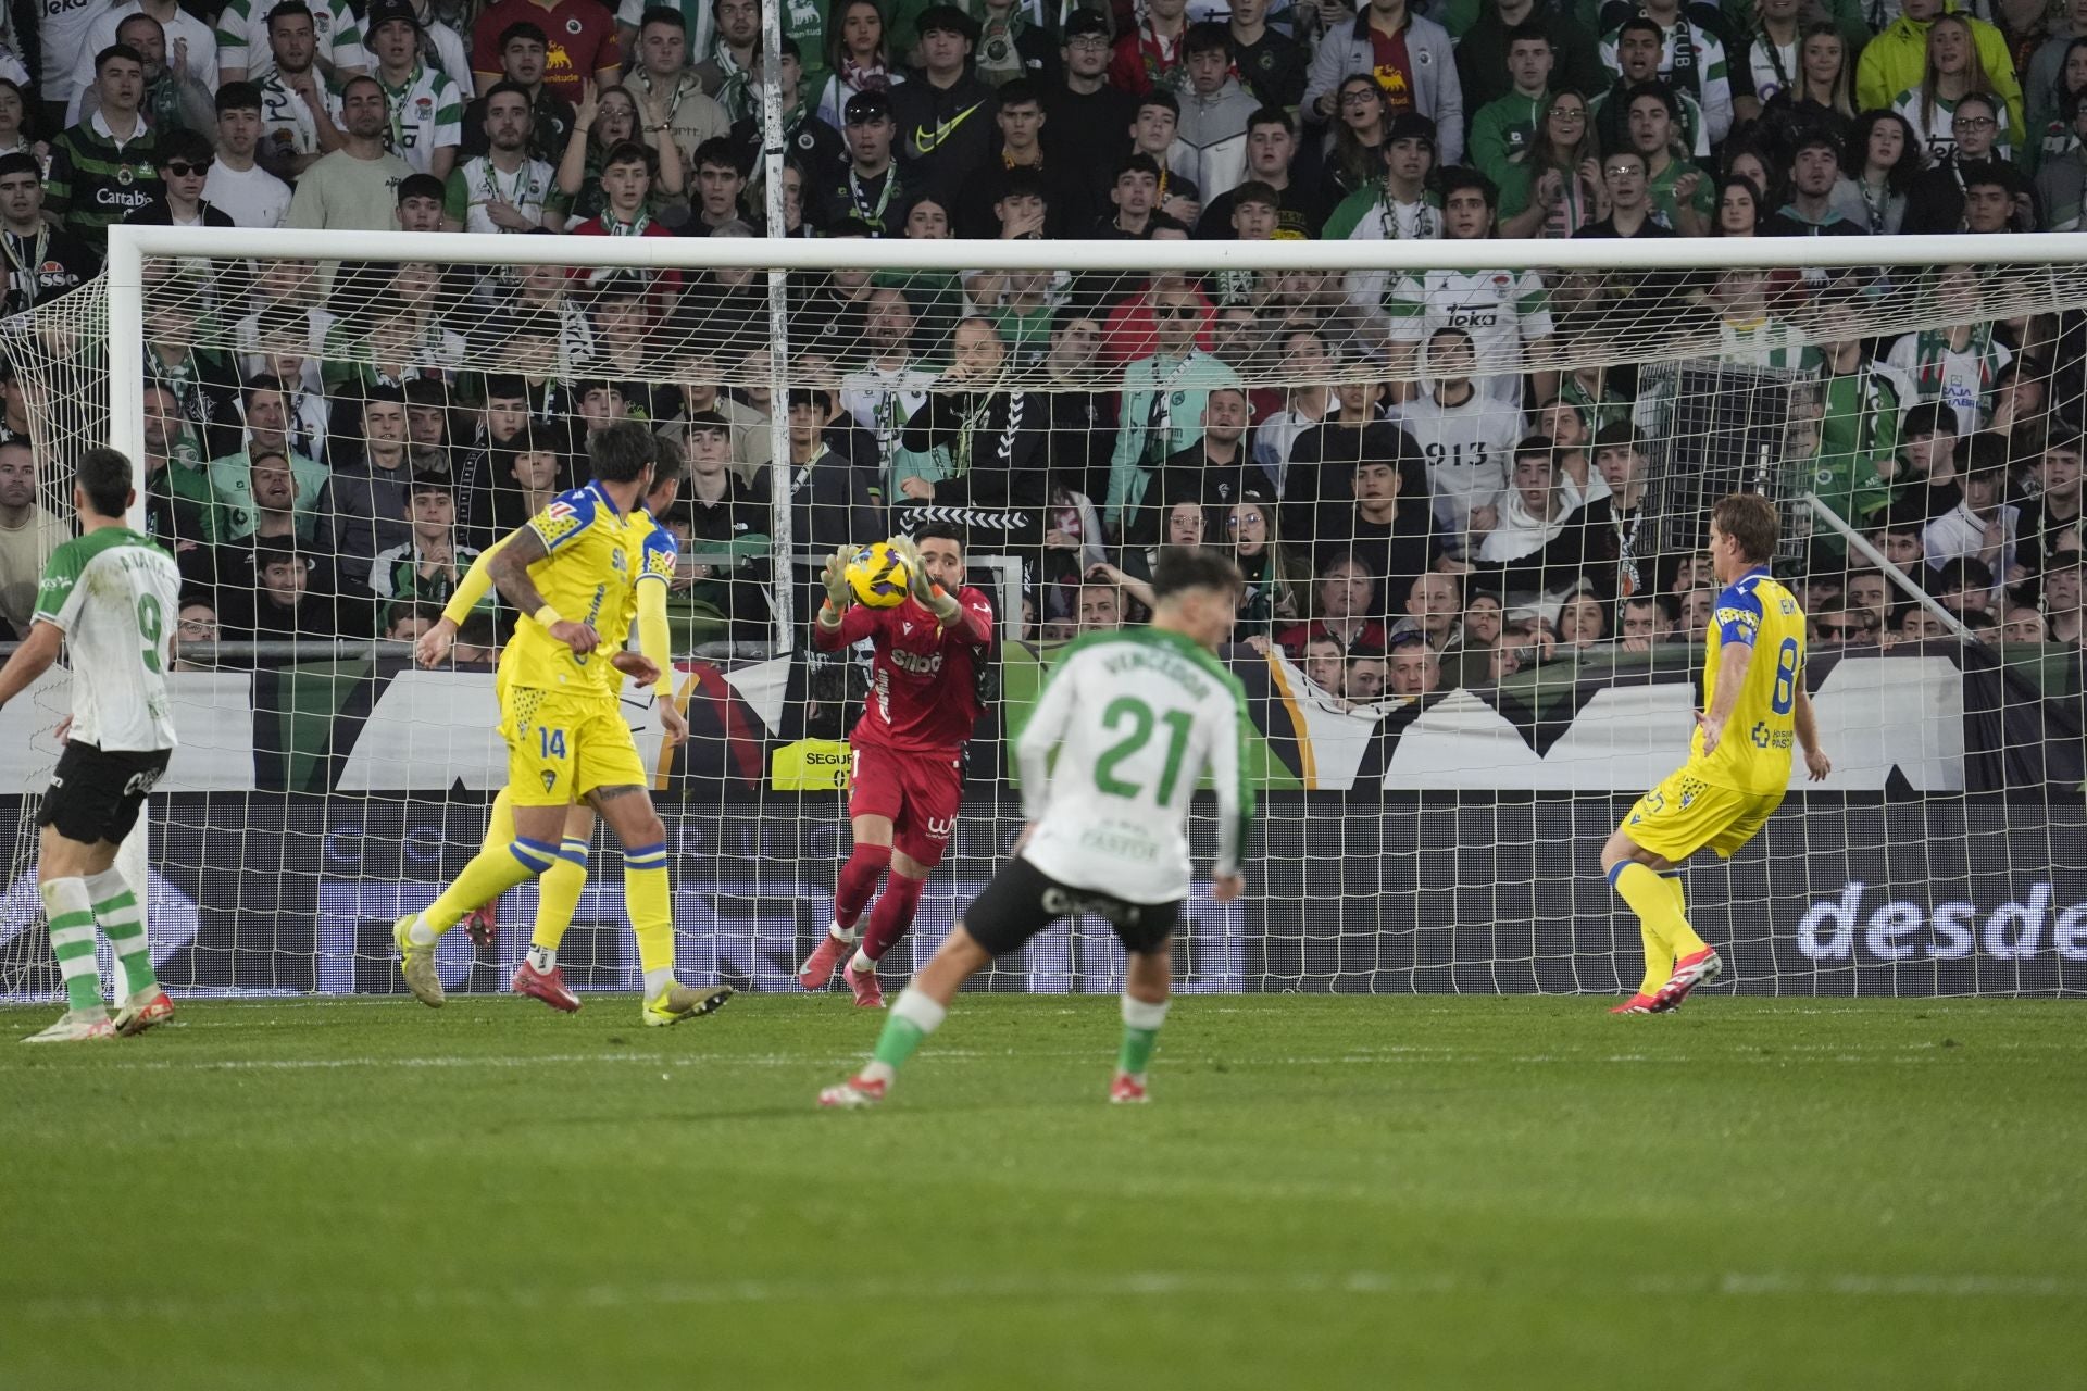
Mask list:
[[[0,311],[96,275],[117,221],[998,240],[2077,229],[2087,0],[1951,6],[793,0],[774,60],[758,0],[88,0],[33,25],[17,8],[0,23]],[[787,148],[774,227],[770,81]],[[956,515],[975,553],[1021,557],[1023,626],[1044,640],[1135,621],[1158,546],[1221,546],[1250,582],[1240,638],[1279,644],[1352,705],[1647,651],[1701,636],[1713,588],[1695,540],[1651,540],[1657,390],[1636,369],[1528,367],[1617,334],[1651,361],[1684,321],[1734,369],[1797,384],[1784,463],[1962,624],[2083,632],[2087,340],[2064,315],[1983,319],[1974,265],[1897,282],[839,271],[793,282],[783,398],[749,269],[182,273],[148,292],[144,400],[152,528],[192,588],[184,634],[411,638],[493,538],[584,475],[586,430],[641,417],[687,469],[668,517],[678,642],[772,638],[781,488],[797,551]],[[1962,315],[1866,338],[1880,294]],[[0,400],[0,619],[21,630],[56,519],[13,367]],[[1818,644],[1949,632],[1839,536],[1803,559]],[[499,632],[488,603],[463,659],[490,659]]]

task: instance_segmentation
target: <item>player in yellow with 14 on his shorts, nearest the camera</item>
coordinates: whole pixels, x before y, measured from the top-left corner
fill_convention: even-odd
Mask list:
[[[465,909],[534,878],[557,859],[566,815],[586,801],[624,847],[624,907],[645,970],[645,1024],[678,1024],[730,999],[730,986],[691,991],[674,980],[674,922],[666,880],[666,826],[645,792],[645,765],[618,709],[622,678],[659,680],[641,653],[603,649],[637,611],[643,544],[659,442],[641,421],[618,421],[586,440],[593,480],[561,492],[490,561],[493,584],[522,611],[501,653],[501,734],[515,836],[480,849],[424,913],[392,934],[401,970],[424,1005],[442,1003],[434,945]]]

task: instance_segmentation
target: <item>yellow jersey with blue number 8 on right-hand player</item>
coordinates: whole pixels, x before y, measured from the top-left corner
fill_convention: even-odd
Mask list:
[[[1728,642],[1753,649],[1747,682],[1732,705],[1718,751],[1703,757],[1703,730],[1688,740],[1682,770],[1741,792],[1780,792],[1791,784],[1797,742],[1797,690],[1805,680],[1805,615],[1766,569],[1749,569],[1718,594],[1703,667],[1703,709],[1718,701],[1718,663]]]

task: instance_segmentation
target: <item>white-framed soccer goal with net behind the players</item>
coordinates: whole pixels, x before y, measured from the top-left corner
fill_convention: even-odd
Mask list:
[[[0,340],[35,503],[63,517],[73,453],[115,442],[190,582],[184,747],[131,865],[173,989],[401,989],[388,924],[476,849],[505,778],[513,615],[470,613],[442,669],[413,638],[584,480],[586,432],[634,415],[687,463],[666,521],[691,738],[626,713],[691,978],[793,989],[849,847],[868,669],[808,642],[818,567],[947,523],[1000,640],[893,974],[1008,853],[1008,749],[1054,655],[1142,621],[1154,551],[1190,544],[1248,578],[1223,661],[1261,815],[1248,897],[1190,905],[1185,989],[1617,993],[1638,941],[1599,845],[1686,757],[1705,521],[1753,490],[1809,613],[1832,774],[1799,767],[1751,845],[1688,865],[1718,989],[2056,995],[2087,989],[2083,267],[2077,236],[117,227],[102,279]],[[56,986],[29,870],[61,713],[63,686],[0,713],[0,995]],[[449,989],[503,989],[532,907],[515,890],[488,943],[445,938]],[[1117,959],[1079,922],[987,984],[1114,991]],[[614,874],[561,961],[637,986]]]

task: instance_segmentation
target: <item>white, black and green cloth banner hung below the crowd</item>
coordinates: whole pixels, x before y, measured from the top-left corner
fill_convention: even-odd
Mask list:
[[[1615,792],[1636,795],[1686,755],[1699,657],[1590,651],[1507,682],[1340,701],[1279,649],[1223,653],[1246,688],[1246,770],[1263,792]],[[1008,784],[1021,732],[1056,649],[1008,642],[966,753],[973,784]],[[845,784],[847,726],[862,680],[849,659],[680,663],[691,738],[662,747],[649,697],[624,703],[668,799]],[[0,711],[0,788],[35,790],[56,763],[63,672]],[[1826,653],[1807,669],[1834,792],[2029,792],[2077,801],[2087,778],[2079,655],[1933,644]],[[167,792],[488,792],[507,778],[486,672],[415,672],[401,659],[342,659],[257,672],[169,676],[182,749]],[[1801,786],[1801,765],[1793,788]]]

